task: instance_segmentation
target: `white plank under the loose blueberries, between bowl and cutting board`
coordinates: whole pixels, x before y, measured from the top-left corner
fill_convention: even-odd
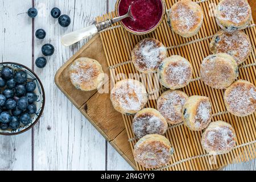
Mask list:
[[[44,0],[36,1],[36,7],[43,16],[36,19],[35,28],[44,28],[47,36],[43,41],[36,40],[35,56],[42,55],[40,48],[44,43],[53,44],[55,54],[47,58],[48,64],[44,69],[35,70],[43,81],[46,107],[40,123],[35,126],[34,168],[104,170],[105,139],[57,89],[53,80],[57,69],[86,42],[84,40],[75,46],[64,47],[60,43],[61,36],[87,26],[96,15],[105,13],[106,2]],[[68,28],[60,27],[57,19],[51,17],[53,7],[59,7],[63,14],[71,17],[72,23]]]

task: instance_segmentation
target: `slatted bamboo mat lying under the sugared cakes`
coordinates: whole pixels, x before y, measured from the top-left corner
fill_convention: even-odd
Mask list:
[[[166,0],[167,9],[170,9],[175,2],[177,1]],[[153,93],[150,98],[151,100],[147,103],[147,107],[156,108],[155,99],[164,92],[164,88],[159,85],[155,75],[139,74],[130,60],[133,47],[140,40],[151,37],[158,39],[164,46],[168,47],[168,56],[183,56],[193,65],[194,79],[188,86],[181,90],[187,93],[188,96],[199,95],[209,97],[212,102],[212,111],[215,113],[213,121],[221,120],[228,122],[236,130],[238,138],[237,147],[228,154],[211,156],[201,147],[202,131],[191,131],[184,125],[169,127],[165,136],[174,147],[175,154],[172,156],[170,164],[166,167],[159,168],[159,170],[212,170],[221,168],[227,164],[245,162],[256,158],[256,113],[248,117],[235,117],[228,113],[223,100],[225,90],[212,89],[205,85],[199,77],[201,61],[203,61],[204,57],[211,54],[209,50],[210,40],[220,29],[217,26],[212,11],[218,2],[218,0],[206,0],[205,2],[199,3],[204,11],[204,23],[199,34],[192,38],[182,38],[172,32],[168,26],[167,17],[155,32],[148,35],[136,36],[130,34],[119,26],[118,23],[114,24],[109,30],[100,33],[112,81],[117,82],[118,80],[128,78],[131,73],[136,73],[134,79],[147,85],[148,93]],[[113,18],[114,16],[114,12],[106,14],[98,17],[97,22],[107,18]],[[253,25],[254,22],[251,22],[251,24]],[[249,59],[241,65],[239,79],[250,81],[256,85],[256,28],[255,26],[251,26],[244,31],[250,37],[253,51]],[[122,74],[120,75],[119,73]],[[160,91],[154,93],[154,89],[158,86],[160,87]],[[131,130],[133,116],[123,115],[123,121],[125,122],[129,136],[130,146],[134,150],[137,139]],[[138,170],[151,170],[143,168],[138,163],[136,165]]]

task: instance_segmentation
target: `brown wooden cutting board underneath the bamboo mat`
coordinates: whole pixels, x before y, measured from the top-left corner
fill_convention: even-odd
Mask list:
[[[252,7],[253,17],[256,19],[256,1],[249,0],[249,3]],[[128,142],[123,115],[113,109],[109,93],[100,94],[97,90],[82,92],[75,89],[71,84],[68,68],[79,57],[90,57],[98,60],[104,72],[110,77],[104,47],[100,35],[97,34],[57,71],[55,75],[56,85],[131,167],[137,169],[131,144]]]

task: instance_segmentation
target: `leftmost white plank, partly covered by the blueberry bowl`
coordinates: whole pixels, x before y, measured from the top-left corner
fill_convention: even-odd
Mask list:
[[[0,1],[0,57],[31,68],[31,1]],[[13,137],[0,135],[0,171],[31,170],[31,130]]]

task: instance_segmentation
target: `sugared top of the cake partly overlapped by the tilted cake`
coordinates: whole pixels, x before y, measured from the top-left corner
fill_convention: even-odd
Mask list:
[[[168,92],[163,94],[158,99],[158,110],[171,124],[180,123],[183,121],[182,108],[187,101],[179,92]]]

